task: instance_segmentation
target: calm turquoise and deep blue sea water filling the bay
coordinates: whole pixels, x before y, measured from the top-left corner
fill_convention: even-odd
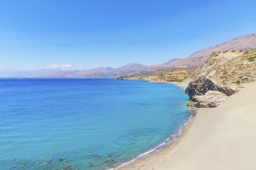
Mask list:
[[[188,121],[170,83],[0,80],[0,169],[106,169],[155,148]]]

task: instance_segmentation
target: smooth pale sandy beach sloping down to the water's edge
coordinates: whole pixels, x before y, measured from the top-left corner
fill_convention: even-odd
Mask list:
[[[200,109],[173,144],[122,170],[256,169],[256,82],[220,107]]]

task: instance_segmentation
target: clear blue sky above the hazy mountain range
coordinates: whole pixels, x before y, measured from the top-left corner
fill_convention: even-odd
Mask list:
[[[256,32],[255,7],[255,0],[0,0],[0,70],[164,63]]]

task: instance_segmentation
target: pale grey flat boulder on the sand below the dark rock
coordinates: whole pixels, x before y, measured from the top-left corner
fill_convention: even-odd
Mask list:
[[[227,95],[220,91],[209,90],[204,95],[195,95],[192,100],[195,101],[195,107],[217,107],[223,103]]]

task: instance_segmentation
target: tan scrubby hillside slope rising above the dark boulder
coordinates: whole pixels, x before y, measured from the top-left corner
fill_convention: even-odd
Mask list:
[[[215,52],[195,70],[193,79],[199,76],[214,80],[225,88],[223,93],[234,93],[243,83],[256,80],[256,49]]]

